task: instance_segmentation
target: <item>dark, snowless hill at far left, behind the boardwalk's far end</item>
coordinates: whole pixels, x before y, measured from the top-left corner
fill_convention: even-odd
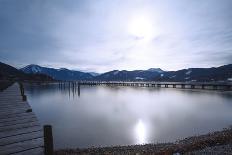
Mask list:
[[[45,74],[26,74],[10,65],[0,62],[0,80],[29,80],[29,81],[52,81]]]

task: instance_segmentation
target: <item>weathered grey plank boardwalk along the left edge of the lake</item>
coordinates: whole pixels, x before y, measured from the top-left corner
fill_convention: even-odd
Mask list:
[[[11,154],[45,154],[43,128],[18,83],[0,92],[0,155]]]

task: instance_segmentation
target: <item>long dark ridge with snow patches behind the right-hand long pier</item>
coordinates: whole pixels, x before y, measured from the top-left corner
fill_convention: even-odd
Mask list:
[[[178,71],[163,71],[161,69],[110,71],[99,76],[97,80],[127,80],[127,81],[229,81],[232,80],[232,64],[212,68],[189,68]]]

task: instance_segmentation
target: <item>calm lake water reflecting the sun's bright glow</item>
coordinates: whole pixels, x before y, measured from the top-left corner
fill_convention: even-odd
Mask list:
[[[171,88],[26,85],[55,148],[175,141],[232,125],[232,92]]]

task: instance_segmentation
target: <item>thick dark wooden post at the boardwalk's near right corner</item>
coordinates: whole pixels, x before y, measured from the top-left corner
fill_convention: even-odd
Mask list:
[[[53,136],[52,136],[52,126],[44,125],[44,154],[53,155]]]

